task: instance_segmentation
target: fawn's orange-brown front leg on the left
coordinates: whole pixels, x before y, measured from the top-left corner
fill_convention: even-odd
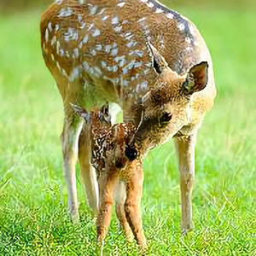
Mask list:
[[[101,251],[104,243],[104,238],[108,232],[110,224],[111,212],[113,207],[113,192],[115,184],[118,180],[118,172],[115,167],[108,168],[103,173],[101,178],[100,188],[100,209],[96,220],[97,226],[97,241],[100,243]]]

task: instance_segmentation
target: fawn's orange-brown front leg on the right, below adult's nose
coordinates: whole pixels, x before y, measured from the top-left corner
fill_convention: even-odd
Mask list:
[[[143,232],[143,221],[141,216],[141,199],[143,196],[143,163],[134,160],[125,170],[126,201],[125,216],[131,226],[137,244],[145,249],[147,241]]]

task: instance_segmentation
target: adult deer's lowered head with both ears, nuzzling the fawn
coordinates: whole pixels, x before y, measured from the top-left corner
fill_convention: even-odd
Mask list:
[[[207,86],[207,62],[203,61],[191,67],[180,76],[168,67],[164,57],[152,44],[148,44],[148,48],[158,80],[137,105],[142,112],[142,119],[128,148],[130,154],[133,151],[133,154],[136,151],[145,153],[173,137],[189,122],[191,97]]]

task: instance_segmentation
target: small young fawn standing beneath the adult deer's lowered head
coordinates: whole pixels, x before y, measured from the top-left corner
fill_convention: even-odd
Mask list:
[[[116,194],[116,214],[127,240],[131,240],[133,233],[138,245],[145,249],[146,239],[140,212],[143,196],[143,160],[130,162],[137,158],[137,153],[134,150],[131,150],[131,154],[127,152],[127,145],[136,131],[135,125],[128,123],[112,126],[108,106],[92,113],[79,106],[72,106],[74,111],[84,118],[85,123],[90,123],[91,165],[96,169],[100,194],[96,221],[97,240],[103,246],[110,224],[113,195]]]

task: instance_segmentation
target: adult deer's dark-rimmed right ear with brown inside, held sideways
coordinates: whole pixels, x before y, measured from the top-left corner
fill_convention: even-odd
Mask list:
[[[192,95],[194,92],[206,88],[208,82],[208,67],[207,61],[202,61],[190,68],[187,79],[183,83],[183,89],[186,94]]]

